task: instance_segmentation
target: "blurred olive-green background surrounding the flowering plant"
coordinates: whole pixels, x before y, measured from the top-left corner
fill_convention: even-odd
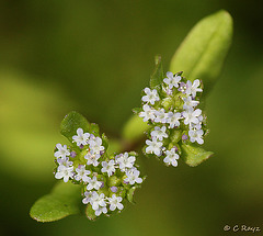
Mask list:
[[[230,235],[226,224],[263,231],[261,3],[1,0],[0,235]],[[196,168],[142,157],[148,179],[137,204],[114,217],[31,220],[31,205],[56,182],[53,149],[64,142],[62,117],[79,111],[119,137],[153,56],[161,54],[168,69],[191,27],[220,9],[232,15],[235,36],[207,100],[205,146],[214,157]]]

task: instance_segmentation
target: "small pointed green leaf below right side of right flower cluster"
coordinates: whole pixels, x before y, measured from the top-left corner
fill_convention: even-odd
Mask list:
[[[185,158],[185,162],[191,167],[198,166],[214,154],[193,144],[182,144],[182,157]]]

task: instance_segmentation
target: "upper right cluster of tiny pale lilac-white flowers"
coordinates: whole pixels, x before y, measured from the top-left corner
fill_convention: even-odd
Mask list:
[[[203,92],[199,87],[198,79],[192,83],[182,72],[168,71],[160,89],[145,88],[139,116],[151,125],[146,154],[162,156],[168,166],[176,167],[182,142],[204,144],[205,117],[196,108]]]

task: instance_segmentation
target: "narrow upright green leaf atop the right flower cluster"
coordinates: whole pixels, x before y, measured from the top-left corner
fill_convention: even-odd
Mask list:
[[[159,91],[161,89],[161,83],[163,80],[163,69],[161,63],[161,56],[156,56],[156,68],[153,74],[150,77],[150,88],[157,89]]]

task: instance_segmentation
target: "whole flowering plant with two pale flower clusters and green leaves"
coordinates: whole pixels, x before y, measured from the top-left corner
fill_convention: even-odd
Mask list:
[[[137,161],[144,155],[168,167],[178,167],[180,161],[195,167],[208,159],[213,153],[202,147],[208,134],[205,99],[231,37],[231,16],[221,10],[193,27],[172,57],[169,71],[163,72],[161,57],[156,57],[149,86],[141,91],[141,106],[134,109],[119,141],[135,150],[110,150],[111,139],[101,134],[99,125],[78,112],[67,114],[60,125],[67,143],[56,144],[54,149],[58,183],[34,203],[31,216],[38,222],[72,214],[91,221],[111,216],[133,203],[135,191],[145,184]]]

